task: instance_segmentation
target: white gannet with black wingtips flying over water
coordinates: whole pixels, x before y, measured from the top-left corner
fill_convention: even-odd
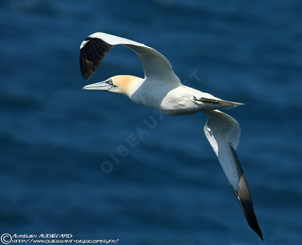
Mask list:
[[[236,148],[240,127],[231,116],[219,111],[242,103],[225,101],[211,94],[182,85],[170,62],[159,52],[125,38],[96,32],[80,46],[80,68],[87,81],[94,74],[105,55],[117,44],[133,50],[141,60],[145,78],[117,75],[103,82],[85,86],[87,90],[105,90],[129,97],[133,102],[168,115],[187,115],[202,111],[208,116],[204,127],[223,171],[227,175],[249,226],[263,240],[251,199],[247,179],[239,163]]]

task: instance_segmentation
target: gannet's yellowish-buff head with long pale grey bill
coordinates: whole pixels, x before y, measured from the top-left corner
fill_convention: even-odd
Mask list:
[[[132,90],[133,83],[142,80],[142,78],[130,75],[118,75],[108,78],[103,82],[97,82],[86,85],[83,89],[88,90],[104,90],[116,94],[129,96]]]

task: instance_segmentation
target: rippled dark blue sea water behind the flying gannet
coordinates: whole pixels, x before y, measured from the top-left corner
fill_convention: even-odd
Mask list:
[[[301,244],[301,13],[298,0],[2,0],[0,235]],[[161,118],[126,97],[82,90],[79,47],[97,31],[145,43],[184,84],[245,103],[223,111],[241,126],[237,154],[264,242],[206,140],[204,114]],[[144,76],[124,46],[89,83],[117,74]],[[138,127],[148,130],[143,139]]]

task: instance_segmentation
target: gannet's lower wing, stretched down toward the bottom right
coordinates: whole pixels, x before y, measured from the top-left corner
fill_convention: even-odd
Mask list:
[[[236,194],[247,223],[263,240],[262,232],[254,212],[247,179],[235,151],[240,137],[239,124],[234,118],[219,110],[211,110],[206,112],[206,114],[208,121],[203,129],[206,138],[213,147],[222,169],[227,175],[227,179]]]

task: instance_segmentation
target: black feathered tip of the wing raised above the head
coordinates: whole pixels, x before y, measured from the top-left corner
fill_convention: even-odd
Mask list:
[[[114,45],[100,38],[88,37],[85,41],[87,42],[80,48],[80,68],[83,78],[88,81]]]

